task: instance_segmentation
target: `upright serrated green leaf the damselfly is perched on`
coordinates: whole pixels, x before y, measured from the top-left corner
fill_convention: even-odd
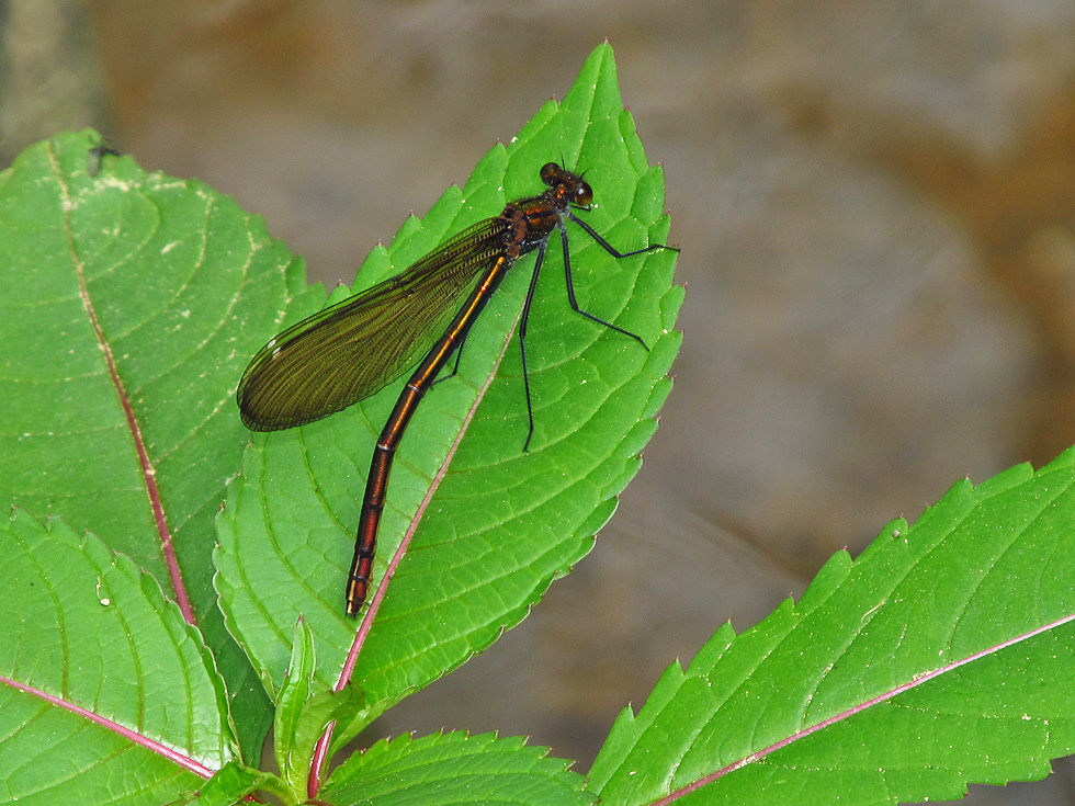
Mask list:
[[[563,103],[545,104],[507,148],[480,161],[463,190],[450,189],[388,249],[375,249],[355,288],[400,271],[508,200],[539,193],[540,167],[562,157],[586,171],[596,206],[579,215],[611,243],[665,242],[660,170],[646,163],[602,45]],[[508,339],[533,257],[519,261],[467,337],[459,376],[426,397],[396,458],[377,583],[404,535],[416,531],[358,658],[366,711],[341,726],[340,738],[517,624],[590,549],[640,467],[680,341],[675,253],[615,260],[569,229],[579,304],[652,349],[570,310],[553,243],[529,328],[536,431],[523,453],[525,397],[518,342]],[[309,313],[292,306],[285,319]],[[299,615],[317,642],[317,679],[336,683],[355,636],[343,616],[343,582],[366,468],[404,381],[312,425],[256,435],[229,488],[217,588],[229,627],[268,686],[283,674]]]

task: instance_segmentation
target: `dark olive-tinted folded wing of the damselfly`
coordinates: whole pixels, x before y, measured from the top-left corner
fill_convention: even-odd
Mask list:
[[[253,356],[236,398],[254,431],[302,425],[380,391],[425,354],[482,270],[502,252],[488,218],[399,274],[294,325]]]

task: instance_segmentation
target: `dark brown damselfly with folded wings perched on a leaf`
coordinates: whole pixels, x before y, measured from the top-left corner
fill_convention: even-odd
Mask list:
[[[530,447],[534,433],[527,374],[527,320],[554,229],[559,230],[563,243],[572,309],[646,347],[635,333],[579,308],[572,282],[566,222],[577,224],[618,259],[675,248],[655,243],[630,252],[618,251],[572,212],[572,207],[589,209],[593,200],[593,191],[580,175],[550,162],[541,169],[541,179],[548,190],[540,196],[511,202],[500,215],[464,229],[399,274],[287,328],[261,348],[242,373],[236,393],[242,422],[254,431],[275,431],[320,420],[370,397],[399,377],[428,350],[399,395],[374,449],[346,588],[348,615],[358,615],[366,598],[388,473],[407,424],[520,256],[538,250],[519,325],[530,417],[523,450]],[[469,296],[448,329],[429,347],[437,334],[437,323],[459,305],[457,300],[475,277],[477,284]],[[459,357],[456,365],[457,361]]]

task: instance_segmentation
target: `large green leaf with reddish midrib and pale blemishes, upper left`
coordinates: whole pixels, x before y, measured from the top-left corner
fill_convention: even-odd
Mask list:
[[[101,155],[91,177],[99,143],[60,135],[0,173],[0,499],[190,598],[258,758],[268,701],[215,606],[213,519],[249,439],[231,391],[302,266],[199,182]]]

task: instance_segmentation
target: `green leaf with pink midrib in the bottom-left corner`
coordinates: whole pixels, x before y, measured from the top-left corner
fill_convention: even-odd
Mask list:
[[[197,631],[91,534],[0,524],[0,802],[167,803],[238,756]]]

